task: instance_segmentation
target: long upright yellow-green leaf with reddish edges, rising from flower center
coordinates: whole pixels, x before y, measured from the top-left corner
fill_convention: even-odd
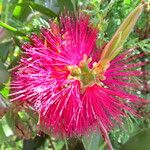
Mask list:
[[[135,26],[135,23],[141,15],[142,11],[143,4],[140,4],[127,16],[127,18],[120,25],[110,42],[105,46],[102,52],[101,60],[108,59],[109,61],[111,61],[120,52],[121,47],[125,43],[130,32],[133,30],[133,27]]]

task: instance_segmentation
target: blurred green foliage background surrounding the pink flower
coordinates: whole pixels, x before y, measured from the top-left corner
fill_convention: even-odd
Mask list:
[[[92,22],[100,29],[99,46],[108,42],[123,19],[140,3],[139,0],[0,0],[0,116],[9,107],[9,73],[21,56],[21,43],[28,41],[26,35],[39,32],[48,26],[50,18],[58,17],[65,10],[76,14],[83,11],[91,15]],[[141,61],[150,60],[150,13],[142,13],[124,49],[137,47],[134,53],[144,52]],[[141,68],[150,70],[150,65]],[[150,99],[150,76],[141,79],[144,90],[137,91],[141,97]],[[4,84],[3,84],[4,83]],[[55,139],[42,133],[37,136],[37,114],[31,110],[16,113],[12,109],[0,119],[0,150],[105,150],[106,143],[97,133],[82,139]],[[18,108],[19,109],[19,108]],[[142,119],[131,116],[123,128],[116,127],[110,139],[116,150],[149,150],[149,106],[139,108]],[[31,139],[32,138],[32,139]]]

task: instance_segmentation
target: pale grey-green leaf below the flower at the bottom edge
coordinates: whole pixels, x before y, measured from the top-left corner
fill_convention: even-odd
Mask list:
[[[99,150],[102,142],[100,134],[92,133],[82,138],[85,150]]]

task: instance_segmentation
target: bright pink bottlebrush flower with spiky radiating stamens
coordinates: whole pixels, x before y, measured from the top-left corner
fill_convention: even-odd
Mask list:
[[[140,86],[135,76],[142,75],[136,69],[145,64],[137,59],[142,54],[130,57],[129,50],[106,66],[98,64],[102,50],[96,48],[97,33],[89,17],[65,16],[60,25],[51,22],[23,45],[11,83],[12,101],[31,106],[39,113],[39,125],[54,134],[110,131],[127,112],[136,114],[134,104],[142,102],[129,92]]]

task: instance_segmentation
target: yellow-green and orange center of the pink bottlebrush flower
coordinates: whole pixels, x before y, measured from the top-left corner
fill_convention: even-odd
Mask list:
[[[93,63],[93,67],[89,68],[91,61],[92,58],[87,58],[84,55],[79,66],[68,66],[68,70],[70,71],[68,79],[79,80],[82,88],[92,86],[93,84],[102,85],[101,81],[105,80],[105,71],[100,69],[102,67],[97,63]]]

